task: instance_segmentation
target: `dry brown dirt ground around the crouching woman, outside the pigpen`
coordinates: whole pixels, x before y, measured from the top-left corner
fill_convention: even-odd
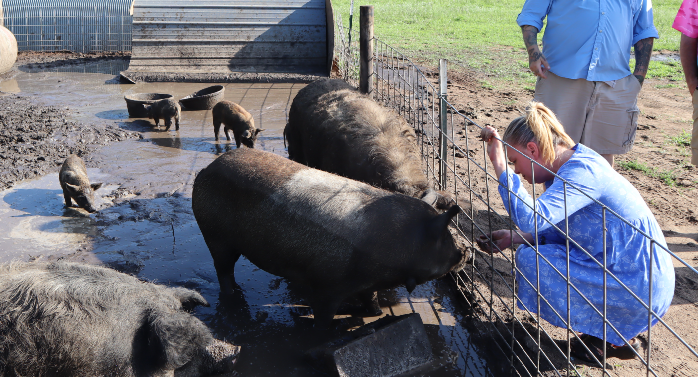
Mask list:
[[[438,71],[433,70],[428,73],[429,77],[433,78],[433,82],[437,82]],[[448,85],[448,100],[454,107],[472,118],[473,121],[480,126],[491,125],[500,130],[500,133],[506,128],[507,124],[521,114],[521,110],[526,107],[526,103],[533,99],[533,91],[524,89],[523,85],[512,84],[507,89],[496,89],[481,84],[484,77],[477,73],[464,71],[450,71],[450,84]],[[646,80],[644,88],[639,94],[638,107],[641,110],[639,116],[637,137],[634,142],[634,147],[627,154],[616,156],[615,168],[621,172],[628,181],[630,181],[641,193],[644,200],[648,203],[651,211],[655,215],[658,223],[664,231],[664,237],[667,239],[669,249],[676,253],[678,257],[683,259],[692,267],[698,266],[698,207],[696,202],[698,199],[698,169],[694,165],[690,165],[690,149],[683,145],[678,145],[673,140],[680,137],[684,130],[690,130],[691,123],[691,98],[688,90],[685,88],[670,87],[671,82],[668,80]],[[475,126],[464,126],[461,124],[454,130],[456,133],[456,142],[463,150],[466,149],[468,140],[470,149],[468,154],[473,157],[477,163],[486,163],[483,156],[482,142],[478,142],[477,135],[480,129]],[[672,138],[674,138],[672,140]],[[690,136],[689,136],[690,138]],[[461,157],[461,158],[457,158]],[[466,172],[466,158],[462,154],[456,156],[456,167],[461,169],[461,176]],[[631,162],[628,167],[628,162]],[[641,170],[632,167],[645,166],[652,177]],[[489,165],[491,168],[491,165]],[[471,163],[473,172],[481,172]],[[473,173],[475,177],[475,173]],[[482,178],[483,175],[480,174]],[[473,190],[477,193],[484,194],[486,192],[483,181],[474,182]],[[489,182],[489,190],[491,193],[491,206],[496,209],[499,214],[506,214],[501,204],[499,195],[496,194],[494,187],[496,182]],[[537,193],[543,192],[542,185],[537,185]],[[459,188],[460,190],[460,188]],[[531,192],[530,185],[528,186]],[[466,194],[466,190],[460,190],[459,195]],[[475,201],[474,207],[487,209],[484,203]],[[505,218],[506,219],[506,218]],[[493,219],[492,229],[505,228],[505,224],[501,221]],[[507,258],[511,260],[512,253],[507,251]],[[495,276],[491,276],[489,271],[490,263],[495,267]],[[498,300],[496,296],[493,300],[493,306],[496,313],[500,316],[501,321],[497,328],[503,334],[507,332],[503,328],[512,327],[512,318],[510,309],[512,307],[511,291],[504,282],[512,286],[511,265],[501,255],[490,256],[482,252],[477,253],[475,258],[475,287],[480,290],[482,295],[476,294],[474,300],[480,302],[483,307],[487,307],[489,302],[489,288],[487,283],[493,277],[494,292],[501,296]],[[676,270],[676,291],[674,300],[669,312],[664,316],[664,320],[669,326],[674,329],[683,339],[694,348],[698,348],[698,333],[696,320],[698,319],[698,275],[691,272],[688,267],[685,267],[681,262],[674,259],[674,267]],[[466,267],[468,274],[470,270]],[[480,274],[477,274],[477,271]],[[484,311],[480,314],[475,313],[475,327],[480,327],[485,334],[493,334],[491,337],[497,339],[496,332],[492,333],[491,327],[487,325],[487,318],[490,313]],[[521,344],[517,348],[517,354],[522,359],[527,357],[523,355],[523,349],[531,357],[531,360],[536,360],[536,354],[533,352],[535,343],[533,339],[536,337],[535,318],[530,317],[527,313],[517,309],[516,316],[519,318],[523,327],[528,330],[533,338],[524,336],[521,324],[517,323],[517,341]],[[480,323],[478,326],[477,323]],[[554,345],[553,341],[560,343],[560,349],[566,353],[566,330],[549,325],[542,321],[542,328],[551,335],[552,339],[547,339],[542,335],[542,344],[544,351],[551,357],[551,362],[560,369],[560,373],[564,375],[562,370],[565,368],[565,358],[562,357],[560,350]],[[487,338],[487,337],[485,337]],[[643,347],[646,347],[646,333],[639,336]],[[489,339],[485,339],[489,340]],[[508,342],[508,341],[507,341]],[[651,360],[653,368],[658,376],[697,376],[698,375],[698,359],[690,354],[671,333],[662,325],[655,325],[652,329],[652,349]],[[503,344],[500,346],[505,347]],[[500,353],[500,351],[496,351]],[[643,348],[643,353],[646,349]],[[544,375],[556,376],[553,371],[554,367],[542,359],[540,369]],[[492,363],[491,363],[492,365]],[[612,376],[639,376],[644,375],[644,367],[637,360],[618,360],[610,359],[607,362],[609,371]],[[528,364],[529,369],[533,369],[533,364]],[[577,362],[577,368],[584,376],[600,376],[601,369],[592,367],[584,362]]]

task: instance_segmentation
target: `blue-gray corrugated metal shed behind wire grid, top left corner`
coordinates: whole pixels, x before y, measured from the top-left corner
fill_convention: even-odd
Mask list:
[[[131,50],[133,0],[0,0],[20,51]]]

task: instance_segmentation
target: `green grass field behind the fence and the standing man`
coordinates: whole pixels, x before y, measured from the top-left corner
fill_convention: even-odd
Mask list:
[[[357,0],[354,29],[359,29],[359,6],[374,6],[376,36],[417,61],[436,65],[439,58],[498,80],[535,82],[516,24],[525,0]],[[334,13],[349,26],[351,0],[334,0]],[[655,50],[678,51],[681,35],[671,29],[681,0],[654,0],[655,27],[660,39]],[[539,41],[542,40],[539,36]],[[653,61],[649,78],[683,80],[681,66]]]

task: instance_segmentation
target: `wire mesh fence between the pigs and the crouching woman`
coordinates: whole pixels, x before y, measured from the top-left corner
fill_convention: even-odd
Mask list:
[[[358,87],[360,74],[359,31],[343,27],[341,18],[338,17],[334,35],[336,39],[334,42],[335,69],[339,71],[338,75],[340,77]],[[685,359],[692,358],[693,361],[698,360],[696,349],[683,339],[682,334],[676,332],[651,309],[653,292],[652,271],[653,264],[657,263],[655,261],[655,252],[669,253],[673,261],[687,267],[691,274],[695,274],[698,277],[696,269],[679,258],[675,253],[669,251],[661,242],[652,239],[646,232],[623,219],[609,207],[591,198],[584,191],[579,190],[579,187],[575,184],[546,169],[563,182],[565,214],[567,214],[562,227],[560,227],[562,223],[556,224],[549,221],[537,208],[535,198],[538,197],[539,193],[536,193],[535,184],[532,185],[533,203],[528,204],[511,190],[508,185],[509,182],[506,185],[498,182],[498,177],[493,175],[491,166],[487,164],[487,145],[479,138],[480,130],[483,127],[473,121],[473,119],[470,119],[466,114],[463,114],[463,112],[459,112],[459,110],[454,108],[454,105],[447,101],[447,93],[440,91],[434,86],[432,83],[434,78],[431,81],[429,80],[429,77],[436,77],[437,75],[424,73],[408,57],[379,38],[374,38],[371,43],[373,43],[374,50],[373,77],[370,79],[373,81],[373,91],[369,93],[369,96],[378,103],[382,103],[386,107],[399,112],[415,128],[419,147],[422,151],[423,167],[430,182],[432,182],[433,188],[435,190],[449,191],[459,202],[463,200],[470,202],[470,207],[464,214],[461,214],[462,216],[458,216],[456,220],[456,232],[457,237],[462,239],[473,250],[473,260],[460,272],[452,273],[451,276],[458,290],[462,293],[464,302],[471,308],[471,318],[475,320],[475,327],[480,330],[480,337],[482,339],[491,339],[492,341],[489,342],[490,344],[487,348],[488,350],[493,350],[493,355],[498,353],[498,355],[493,357],[487,357],[489,360],[502,360],[501,356],[505,357],[505,360],[509,361],[509,365],[503,371],[511,376],[618,376],[615,372],[613,360],[610,362],[606,360],[607,350],[605,346],[602,347],[604,349],[601,357],[595,358],[595,367],[598,369],[589,369],[588,364],[580,364],[579,360],[575,360],[570,355],[570,342],[572,339],[578,339],[581,344],[584,344],[584,342],[581,342],[580,334],[577,334],[570,325],[570,302],[572,301],[570,300],[570,295],[573,293],[582,297],[584,302],[591,306],[597,316],[600,317],[600,320],[602,320],[600,323],[604,324],[604,341],[607,340],[607,334],[617,334],[623,341],[628,341],[619,331],[618,324],[611,323],[611,320],[607,318],[607,302],[609,302],[608,300],[613,300],[613,297],[608,297],[607,295],[607,286],[608,283],[612,282],[621,286],[647,312],[647,323],[650,326],[643,333],[644,350],[643,348],[640,348],[638,351],[633,350],[637,359],[643,365],[642,369],[644,370],[641,374],[660,376],[658,373],[664,373],[656,370],[662,361],[656,360],[652,355],[652,337],[658,330],[662,331],[662,337],[673,337],[672,341],[676,343],[676,346],[683,347],[686,355],[688,355]],[[447,87],[445,78],[443,77],[444,81],[440,85],[441,88]],[[456,140],[459,142],[456,142]],[[507,145],[505,142],[503,144]],[[510,145],[507,146],[511,147]],[[506,150],[507,148],[505,148]],[[537,164],[535,161],[530,161],[530,163],[532,168]],[[542,167],[540,164],[537,165]],[[539,242],[535,242],[535,244],[531,244],[526,240],[524,242],[527,246],[535,249],[537,272],[540,272],[542,263],[547,263],[548,267],[565,281],[567,285],[566,313],[558,313],[554,309],[555,306],[550,304],[549,298],[540,292],[541,276],[539,273],[535,274],[536,279],[534,281],[530,281],[521,272],[519,266],[514,262],[514,246],[516,245],[500,250],[489,239],[488,233],[494,230],[506,229],[510,230],[510,232],[517,230],[507,215],[509,211],[501,204],[502,200],[497,193],[498,186],[503,186],[510,198],[521,200],[533,211],[536,220],[534,239],[538,239],[538,223],[541,221],[549,224],[551,228],[564,235],[567,249],[567,263],[563,266],[564,268],[558,268],[559,266],[556,266],[540,253],[538,248]],[[494,190],[496,195],[491,195],[492,190]],[[567,221],[570,215],[567,212],[567,195],[568,193],[574,193],[574,191],[585,195],[602,209],[604,251],[602,258],[600,258],[601,260],[575,242],[567,231],[569,229]],[[511,206],[511,200],[509,200],[509,205]],[[616,219],[630,226],[639,232],[642,237],[646,237],[651,246],[649,256],[650,288],[645,294],[634,292],[608,269],[606,225],[609,219]],[[480,237],[484,237],[486,242],[491,247],[493,246],[492,249],[497,249],[500,253],[495,255],[495,253],[489,254],[480,251],[475,242]],[[593,304],[575,286],[573,279],[570,279],[570,248],[572,247],[586,254],[598,267],[599,274],[603,272],[604,297],[601,305]],[[535,290],[537,295],[537,305],[535,307],[526,307],[520,300],[517,284],[522,283],[522,280],[526,281]],[[517,304],[522,304],[523,310],[518,309]],[[541,308],[541,304],[552,309],[567,328],[559,329],[545,321],[541,321],[540,311],[536,309]],[[545,309],[545,306],[543,309]],[[551,334],[551,332],[554,332],[554,334]],[[586,344],[584,344],[584,347],[587,352],[591,353]],[[492,365],[493,363],[490,364],[493,370],[496,369],[496,366]]]

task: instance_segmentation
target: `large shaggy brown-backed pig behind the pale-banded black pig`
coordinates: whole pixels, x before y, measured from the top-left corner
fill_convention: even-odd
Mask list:
[[[283,134],[293,161],[415,198],[428,195],[438,209],[454,203],[450,193],[429,190],[405,119],[344,80],[318,80],[298,91]]]

